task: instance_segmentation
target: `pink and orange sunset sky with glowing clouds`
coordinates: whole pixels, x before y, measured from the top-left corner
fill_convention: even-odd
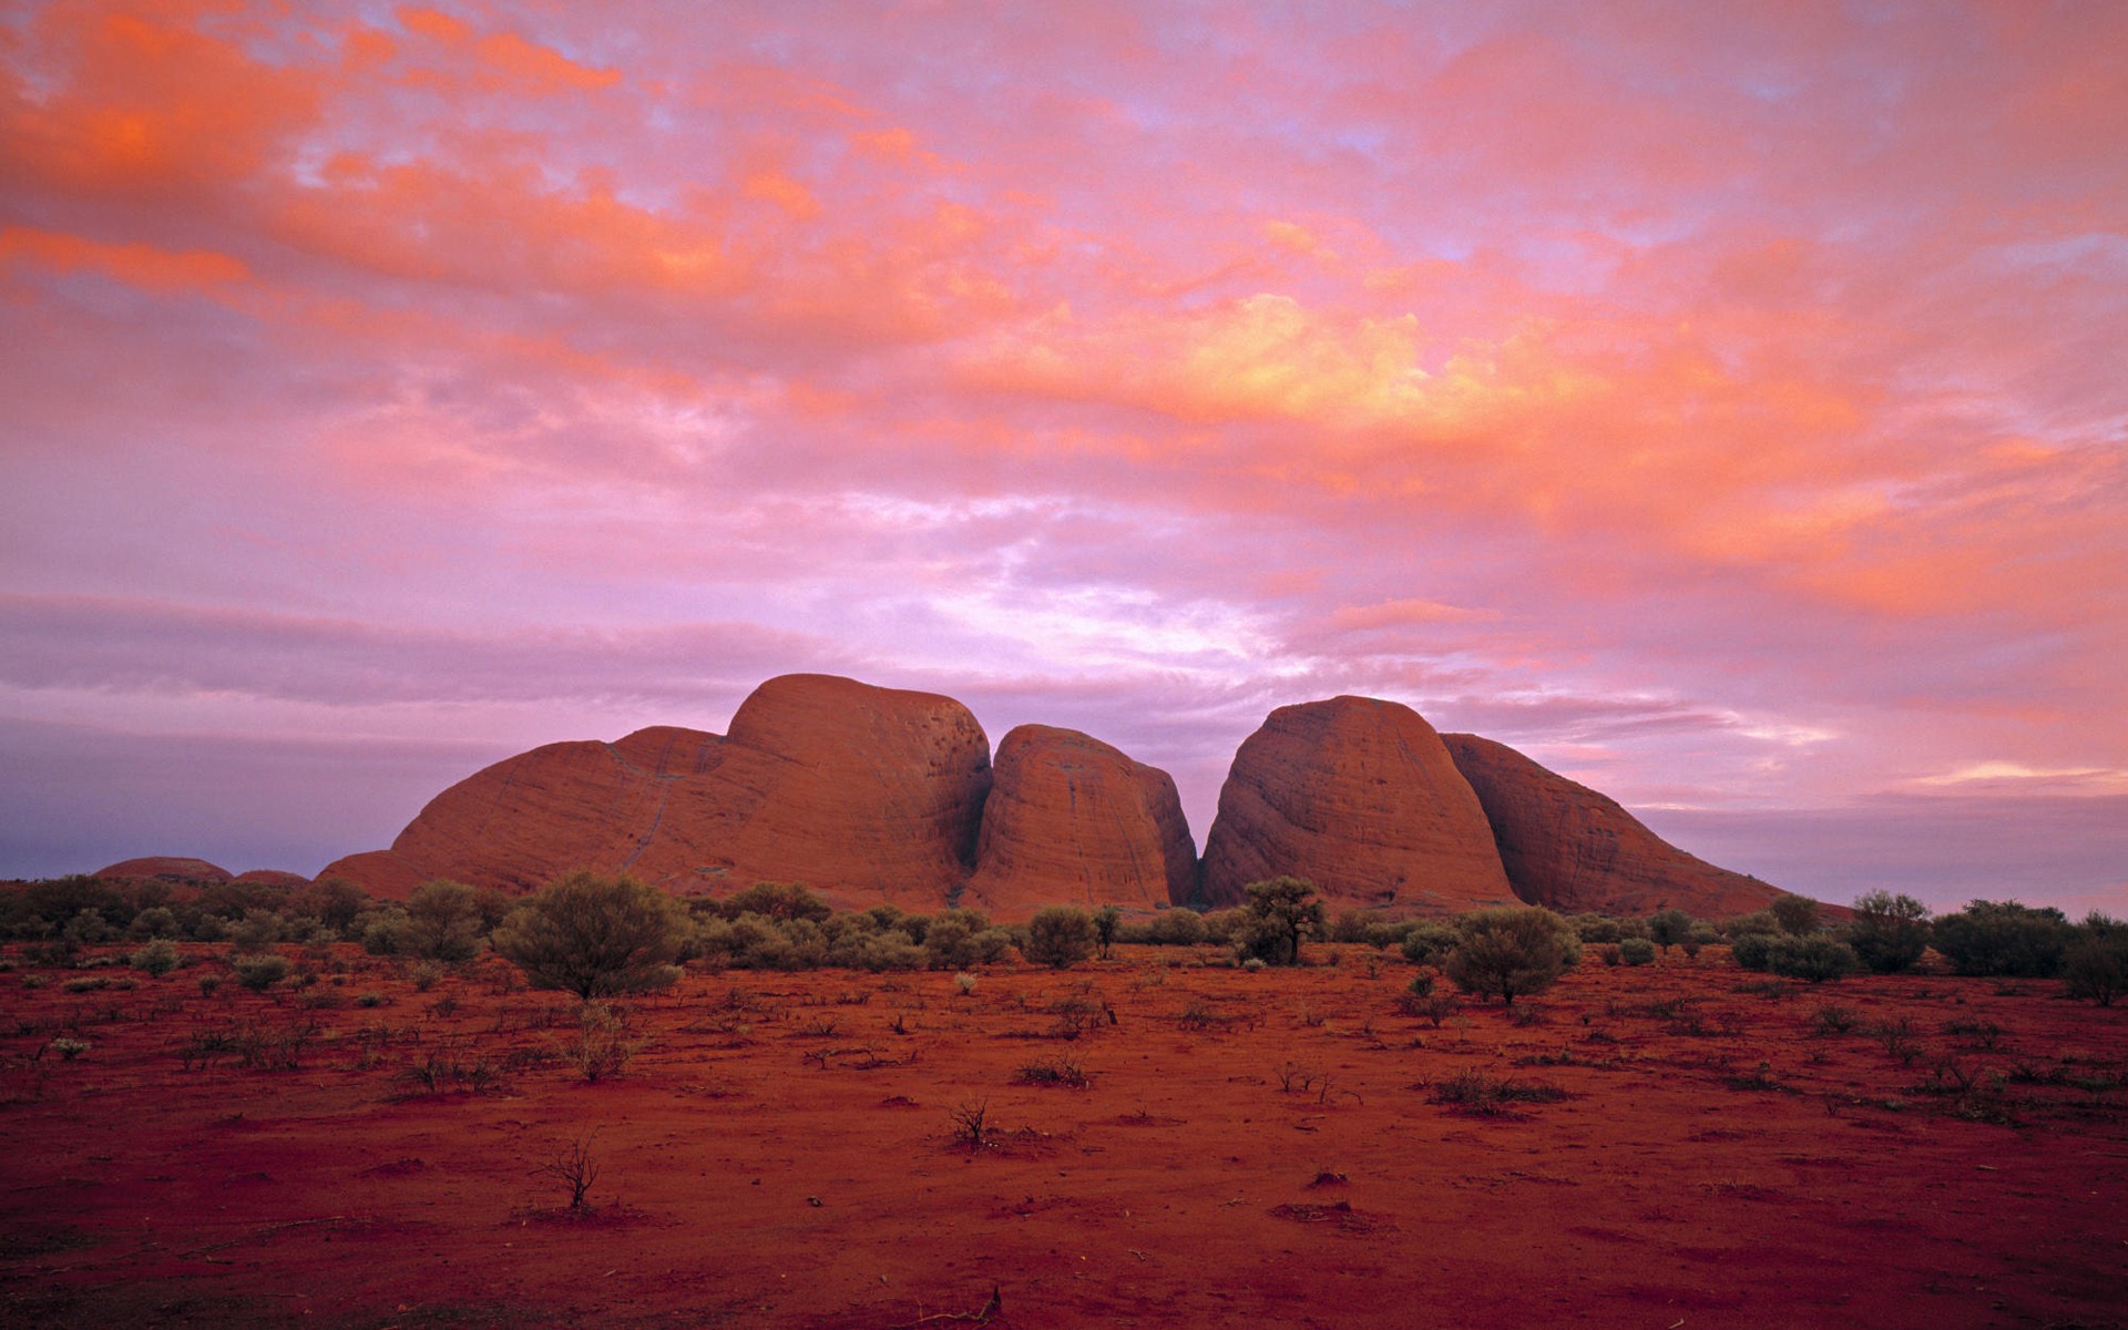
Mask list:
[[[0,875],[849,675],[2128,913],[2128,6],[15,2]]]

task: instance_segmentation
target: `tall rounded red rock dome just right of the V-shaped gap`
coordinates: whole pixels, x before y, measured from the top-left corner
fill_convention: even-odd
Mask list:
[[[1470,785],[1417,711],[1330,698],[1270,713],[1219,789],[1204,900],[1304,877],[1332,909],[1453,913],[1515,900]]]

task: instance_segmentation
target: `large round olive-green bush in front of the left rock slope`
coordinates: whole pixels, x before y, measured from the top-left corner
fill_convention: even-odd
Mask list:
[[[670,985],[687,932],[687,911],[658,887],[577,870],[511,911],[489,941],[534,987],[589,1000]]]

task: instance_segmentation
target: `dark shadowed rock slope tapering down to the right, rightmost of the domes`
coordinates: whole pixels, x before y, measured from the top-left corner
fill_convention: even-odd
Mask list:
[[[1545,770],[1504,743],[1443,734],[1477,792],[1515,894],[1560,913],[1647,915],[1677,907],[1700,919],[1766,909],[1777,887],[1698,860],[1615,800]]]

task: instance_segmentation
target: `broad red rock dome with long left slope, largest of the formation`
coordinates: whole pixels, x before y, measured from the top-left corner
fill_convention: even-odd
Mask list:
[[[787,675],[741,704],[730,736],[655,726],[506,758],[430,800],[389,851],[323,877],[404,896],[432,877],[530,892],[594,868],[938,909],[968,877],[987,794],[990,741],[960,702]]]

